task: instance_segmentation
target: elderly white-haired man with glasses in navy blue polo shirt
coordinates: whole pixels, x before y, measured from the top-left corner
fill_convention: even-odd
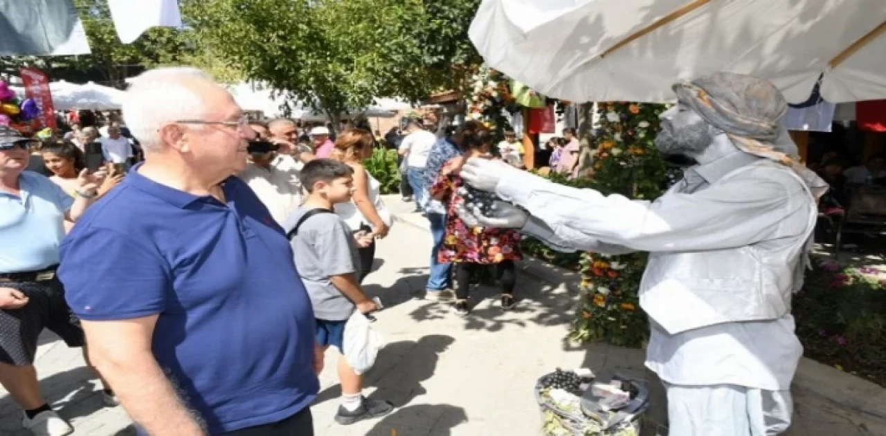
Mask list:
[[[254,136],[243,111],[173,68],[142,74],[123,117],[144,163],[74,227],[58,271],[97,370],[142,434],[313,434],[323,355],[283,229],[232,176]]]

